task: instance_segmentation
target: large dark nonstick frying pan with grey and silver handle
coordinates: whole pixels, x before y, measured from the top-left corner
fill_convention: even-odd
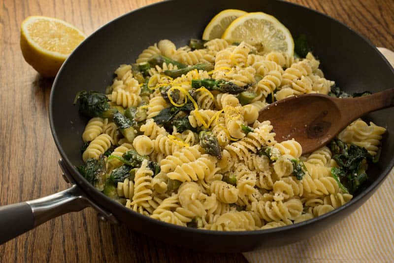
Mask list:
[[[0,244],[62,214],[91,206],[112,223],[179,246],[216,252],[245,252],[280,246],[313,236],[340,222],[361,206],[384,181],[394,165],[394,109],[366,116],[387,127],[381,159],[368,170],[369,182],[349,203],[318,218],[267,230],[208,231],[160,222],[137,214],[91,186],[75,169],[82,164],[81,133],[88,121],[72,102],[82,89],[101,90],[111,84],[114,70],[132,63],[139,52],[160,39],[177,46],[200,38],[209,20],[219,11],[236,8],[274,15],[293,36],[305,34],[323,72],[347,92],[378,92],[392,87],[394,71],[365,38],[340,22],[311,9],[276,0],[172,0],[123,15],[87,38],[69,56],[57,75],[50,98],[49,118],[67,182],[62,192],[0,208]]]

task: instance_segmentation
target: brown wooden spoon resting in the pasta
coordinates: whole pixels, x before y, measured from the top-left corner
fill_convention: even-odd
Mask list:
[[[309,153],[327,144],[353,120],[393,106],[394,88],[346,99],[305,94],[266,106],[259,113],[259,121],[271,121],[278,142],[294,138],[302,153]]]

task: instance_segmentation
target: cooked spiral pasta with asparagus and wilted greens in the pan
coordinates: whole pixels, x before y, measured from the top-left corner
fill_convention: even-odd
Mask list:
[[[348,203],[354,192],[337,174],[345,155],[335,147],[359,147],[376,158],[386,129],[358,119],[339,133],[338,144],[310,154],[294,139],[277,142],[275,127],[259,121],[259,111],[293,95],[328,94],[334,82],[312,53],[295,58],[259,50],[224,39],[192,50],[163,39],[136,63],[155,55],[171,63],[150,65],[144,73],[120,65],[105,96],[110,110],[125,119],[90,116],[82,133],[86,165],[105,163],[103,192],[156,220],[224,231],[292,225]],[[213,67],[166,75],[198,63]],[[196,80],[208,84],[196,86]],[[228,90],[219,87],[223,83]],[[364,173],[367,158],[358,165]]]

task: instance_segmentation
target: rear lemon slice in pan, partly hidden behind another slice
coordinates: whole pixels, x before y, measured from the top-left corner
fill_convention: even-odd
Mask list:
[[[247,12],[238,9],[226,9],[218,13],[212,18],[212,20],[206,26],[202,39],[211,40],[215,38],[221,38],[226,28],[234,21],[237,17],[243,16]]]

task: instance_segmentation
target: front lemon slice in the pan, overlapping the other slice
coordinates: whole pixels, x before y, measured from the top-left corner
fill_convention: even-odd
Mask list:
[[[263,12],[248,13],[229,25],[222,38],[230,42],[245,41],[260,52],[280,51],[294,55],[294,41],[290,31],[275,17]]]

